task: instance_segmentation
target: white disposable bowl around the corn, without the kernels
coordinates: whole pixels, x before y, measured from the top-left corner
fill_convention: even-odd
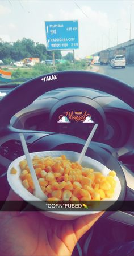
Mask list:
[[[34,152],[34,153],[30,153],[31,158],[33,158],[33,156],[37,155],[39,157],[44,157],[44,156],[52,156],[52,157],[58,157],[61,155],[65,155],[70,161],[77,161],[78,157],[79,157],[79,153],[77,152],[73,152],[73,151],[43,151],[43,152]],[[45,206],[43,207],[43,202],[35,197],[33,194],[31,194],[30,192],[28,192],[28,190],[26,188],[24,188],[24,186],[22,185],[22,181],[20,180],[19,176],[21,173],[20,167],[19,167],[19,162],[26,159],[26,156],[20,156],[18,157],[18,159],[15,159],[9,166],[8,170],[7,170],[7,180],[9,182],[9,185],[11,186],[12,190],[14,190],[14,192],[16,194],[18,194],[18,196],[20,196],[21,198],[23,198],[24,201],[30,201],[30,204],[32,204],[33,206],[36,206],[36,201],[37,202],[37,207],[41,210],[41,213],[45,214],[45,216],[51,217],[51,218],[55,218],[58,220],[73,220],[74,218],[78,218],[79,216],[83,216],[83,215],[88,215],[88,214],[94,214],[99,212],[97,211],[46,211],[45,210]],[[85,156],[83,158],[82,161],[82,166],[83,167],[87,167],[87,168],[93,168],[96,171],[102,172],[102,174],[104,176],[107,176],[108,173],[110,172],[110,169],[108,169],[106,166],[104,166],[103,164],[101,164],[100,162],[91,159],[90,157]],[[11,174],[11,168],[14,167],[17,170],[16,174]],[[115,170],[116,171],[116,170]],[[110,202],[110,206],[112,204],[114,204],[114,202],[116,200],[118,200],[118,197],[120,195],[121,192],[121,184],[119,181],[118,177],[115,177],[116,180],[116,187],[115,187],[115,193],[114,196],[112,198],[105,198],[104,200],[107,201],[111,201]],[[39,205],[39,201],[40,201],[40,205]],[[106,210],[106,209],[103,209]]]

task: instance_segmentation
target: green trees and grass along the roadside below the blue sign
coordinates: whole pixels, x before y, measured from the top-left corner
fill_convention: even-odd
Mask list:
[[[2,66],[0,68],[5,71],[10,71],[12,80],[35,78],[36,76],[56,71],[87,69],[87,61],[85,59],[75,60],[75,63],[73,63],[72,52],[68,52],[65,56],[61,55],[61,51],[54,51],[54,54],[55,65],[52,64],[52,51],[47,51],[44,44],[34,42],[27,38],[16,42],[0,42],[0,56],[5,65],[5,68],[2,68]],[[35,64],[35,66],[24,65],[23,67],[11,65],[11,63],[13,64],[15,61],[23,61],[24,58],[30,57],[39,58],[40,63]],[[47,60],[49,60],[51,64],[48,64]]]

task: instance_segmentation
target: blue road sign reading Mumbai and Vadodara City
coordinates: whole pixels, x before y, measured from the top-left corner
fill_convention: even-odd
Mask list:
[[[78,21],[45,21],[47,50],[78,49]]]

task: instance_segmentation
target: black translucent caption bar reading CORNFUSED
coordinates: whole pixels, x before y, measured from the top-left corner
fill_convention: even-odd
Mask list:
[[[131,211],[134,201],[0,201],[1,211]]]

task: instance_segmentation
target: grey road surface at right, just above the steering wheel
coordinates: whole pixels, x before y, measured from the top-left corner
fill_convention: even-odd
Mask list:
[[[129,84],[129,86],[134,87],[134,64],[128,64],[125,69],[124,68],[115,68],[112,69],[111,66],[98,66],[95,65],[96,67],[99,68],[98,72],[112,76],[112,78],[119,79],[123,81],[124,83]]]

